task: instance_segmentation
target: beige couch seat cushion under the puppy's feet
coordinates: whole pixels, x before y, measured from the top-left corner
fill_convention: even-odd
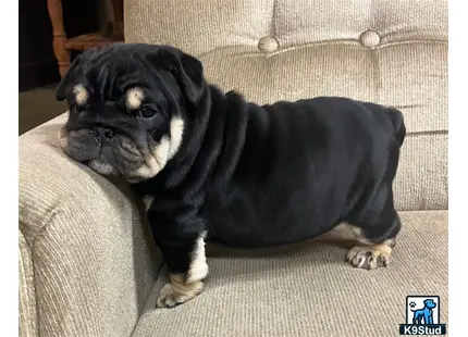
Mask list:
[[[155,309],[159,275],[134,330],[143,336],[397,336],[406,296],[440,296],[447,322],[447,212],[402,212],[389,267],[344,262],[348,227],[312,241],[264,250],[208,245],[206,290],[174,309]]]

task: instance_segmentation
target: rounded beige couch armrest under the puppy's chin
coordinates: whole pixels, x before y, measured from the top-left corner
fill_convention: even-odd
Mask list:
[[[58,148],[64,121],[20,137],[20,335],[130,336],[161,259],[128,187]]]

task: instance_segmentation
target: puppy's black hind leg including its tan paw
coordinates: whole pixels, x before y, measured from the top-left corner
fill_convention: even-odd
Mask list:
[[[347,221],[356,234],[356,246],[346,254],[355,267],[373,270],[390,263],[392,249],[402,223],[393,204],[389,185],[383,185],[374,199]]]

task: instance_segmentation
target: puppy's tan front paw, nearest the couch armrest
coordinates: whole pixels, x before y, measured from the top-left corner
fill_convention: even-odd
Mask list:
[[[185,284],[180,275],[171,275],[170,277],[171,282],[159,292],[157,301],[159,308],[174,308],[185,303],[195,298],[204,289],[201,280]]]

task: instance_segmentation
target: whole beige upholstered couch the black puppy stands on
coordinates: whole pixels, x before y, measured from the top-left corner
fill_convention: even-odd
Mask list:
[[[399,108],[394,260],[353,269],[344,227],[278,249],[210,246],[206,291],[156,310],[167,275],[139,204],[65,158],[62,115],[20,137],[21,336],[397,336],[407,295],[439,295],[447,323],[445,1],[128,0],[125,34],[199,55],[211,82],[259,103],[338,95]]]

